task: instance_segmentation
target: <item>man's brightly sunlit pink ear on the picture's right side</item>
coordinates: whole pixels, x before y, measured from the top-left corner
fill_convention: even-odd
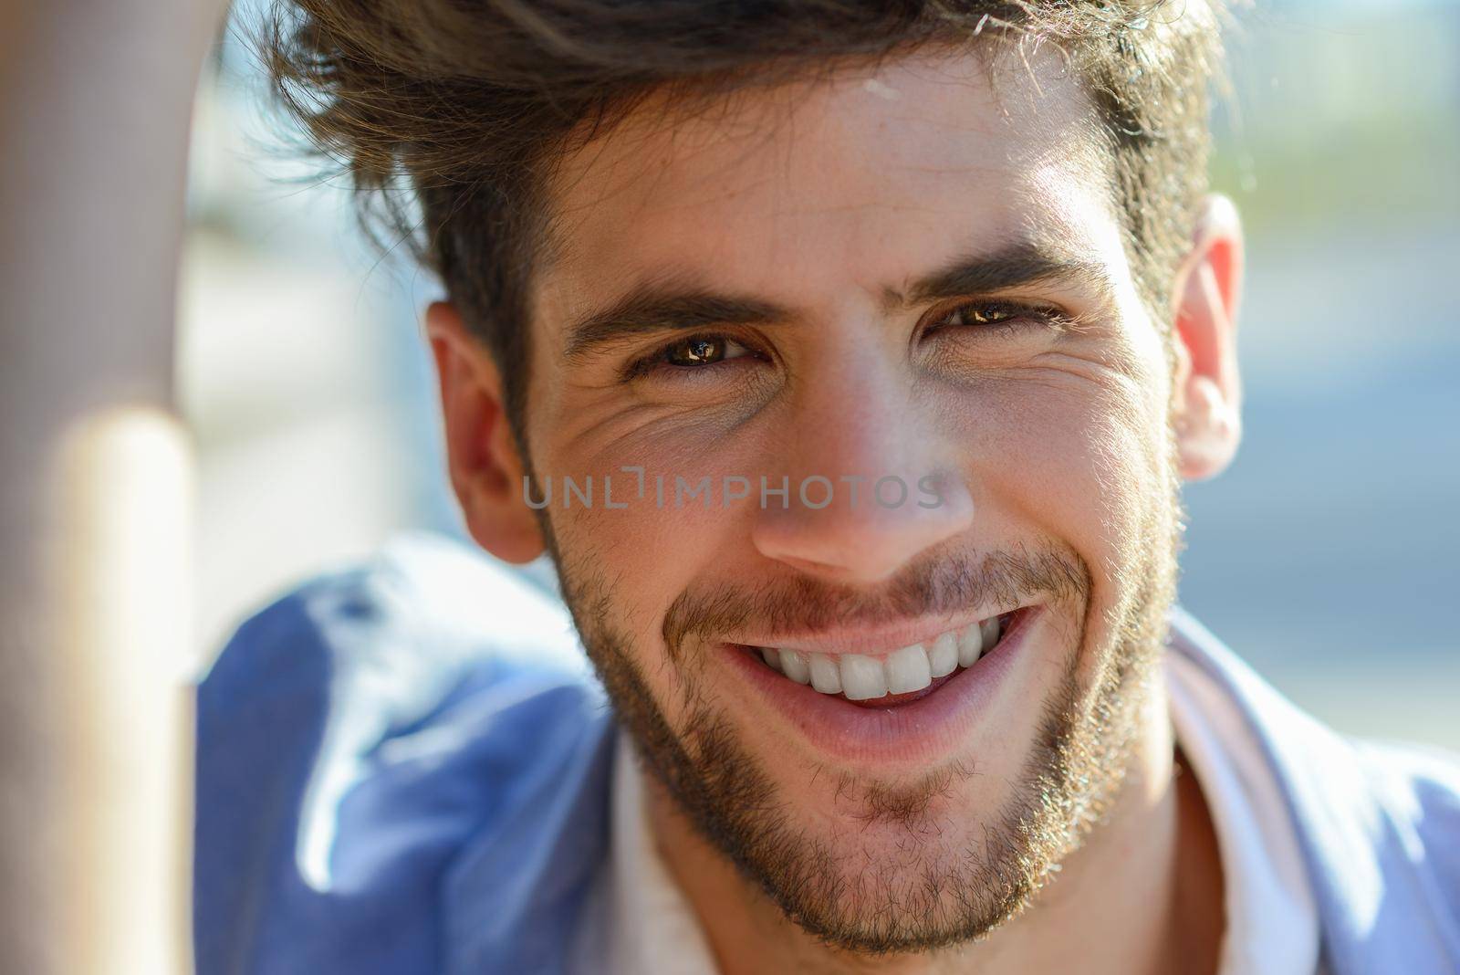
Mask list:
[[[1172,290],[1175,384],[1172,415],[1181,476],[1222,473],[1242,439],[1237,369],[1237,307],[1242,292],[1242,226],[1223,196],[1202,201],[1191,250]]]

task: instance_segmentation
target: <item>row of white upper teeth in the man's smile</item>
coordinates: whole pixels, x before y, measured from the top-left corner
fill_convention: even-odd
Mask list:
[[[921,690],[939,677],[974,661],[999,642],[999,617],[969,623],[940,633],[924,644],[895,650],[886,657],[863,654],[810,654],[799,650],[761,648],[761,657],[775,670],[822,693],[841,693],[850,701],[872,701],[889,693]]]

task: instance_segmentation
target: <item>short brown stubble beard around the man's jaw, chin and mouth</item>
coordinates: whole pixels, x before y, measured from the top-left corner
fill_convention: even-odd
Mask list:
[[[588,560],[564,559],[550,524],[546,518],[542,524],[564,598],[619,721],[677,810],[804,931],[832,949],[879,956],[974,941],[1019,915],[1115,803],[1139,744],[1175,594],[1181,512],[1174,476],[1165,493],[1167,504],[1152,505],[1142,537],[1113,572],[1118,597],[1099,613],[1104,620],[1092,620],[1091,569],[1069,549],[996,553],[958,571],[934,563],[902,587],[899,604],[929,597],[939,607],[959,598],[958,585],[965,587],[965,606],[1010,588],[1025,596],[1042,591],[1051,609],[1063,607],[1077,622],[1077,632],[1063,677],[1041,706],[1013,794],[990,822],[969,825],[961,845],[946,838],[930,807],[956,795],[972,768],[952,763],[899,787],[842,776],[840,798],[860,804],[866,822],[905,833],[895,857],[860,851],[856,866],[851,854],[797,825],[772,776],[707,695],[701,661],[683,655],[692,642],[686,635],[723,622],[727,606],[740,616],[756,613],[764,594],[736,604],[717,593],[707,619],[666,620],[669,657],[683,690],[685,720],[676,731],[639,666],[658,654],[637,651],[615,626],[612,581],[588,571]],[[844,603],[823,600],[810,612],[845,613]],[[759,609],[772,616],[796,612],[774,597]],[[1095,632],[1107,635],[1104,647],[1088,645]]]

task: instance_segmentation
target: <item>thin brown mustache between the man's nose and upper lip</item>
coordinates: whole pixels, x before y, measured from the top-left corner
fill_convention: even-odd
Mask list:
[[[1053,543],[977,555],[929,553],[875,590],[809,575],[756,585],[720,581],[691,587],[664,613],[661,635],[677,663],[692,638],[708,639],[752,622],[758,629],[815,631],[953,614],[977,603],[1022,604],[1037,596],[1083,604],[1092,585],[1085,560]]]

